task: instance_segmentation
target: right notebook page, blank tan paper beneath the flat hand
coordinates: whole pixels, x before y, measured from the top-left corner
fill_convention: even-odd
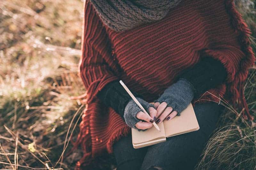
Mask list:
[[[169,121],[164,120],[164,128],[166,137],[198,130],[199,124],[192,104],[190,103],[180,116],[175,116]]]

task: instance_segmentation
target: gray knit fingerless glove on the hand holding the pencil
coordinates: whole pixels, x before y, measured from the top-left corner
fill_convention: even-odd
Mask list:
[[[153,107],[155,108],[155,106],[151,103],[148,103],[146,102],[145,100],[141,99],[140,97],[136,97],[136,99],[140,102],[140,104],[143,106],[143,108],[149,113],[149,107]],[[155,108],[156,109],[156,108]],[[138,129],[135,124],[138,123],[141,119],[138,119],[136,117],[137,113],[139,111],[142,111],[142,109],[140,109],[140,107],[134,102],[133,99],[131,99],[127,105],[125,106],[125,109],[124,109],[124,120],[125,120],[125,123],[131,127],[131,128],[134,128],[134,129],[137,129],[138,131],[146,131],[147,129],[145,130],[142,130],[142,129]],[[142,120],[143,122],[144,120]],[[144,121],[145,122],[145,121]]]

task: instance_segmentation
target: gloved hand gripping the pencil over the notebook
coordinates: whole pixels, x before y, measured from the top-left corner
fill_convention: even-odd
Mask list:
[[[156,108],[153,104],[146,102],[140,97],[136,97],[143,108],[149,113],[145,114],[142,109],[131,99],[124,109],[125,123],[138,131],[145,131],[153,126],[154,117],[156,117]]]

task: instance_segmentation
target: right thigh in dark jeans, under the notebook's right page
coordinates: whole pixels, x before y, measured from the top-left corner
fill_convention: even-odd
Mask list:
[[[218,103],[196,103],[194,110],[200,129],[170,138],[148,147],[142,170],[152,166],[163,169],[194,169],[200,155],[216,128],[223,106]]]

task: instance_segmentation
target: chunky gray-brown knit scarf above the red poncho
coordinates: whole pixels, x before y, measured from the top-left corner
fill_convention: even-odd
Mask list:
[[[181,0],[90,0],[101,20],[117,32],[160,20]]]

